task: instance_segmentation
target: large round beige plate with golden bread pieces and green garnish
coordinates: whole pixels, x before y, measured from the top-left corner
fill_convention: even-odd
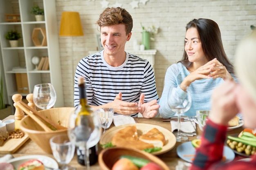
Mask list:
[[[150,152],[153,155],[160,155],[174,148],[176,137],[161,126],[135,123],[112,127],[103,133],[99,143],[101,146],[111,144],[139,150],[160,148],[161,150]]]

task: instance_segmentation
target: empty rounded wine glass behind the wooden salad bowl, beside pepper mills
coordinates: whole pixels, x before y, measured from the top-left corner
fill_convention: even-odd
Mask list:
[[[56,102],[56,92],[50,83],[34,86],[33,101],[40,109],[50,109]]]

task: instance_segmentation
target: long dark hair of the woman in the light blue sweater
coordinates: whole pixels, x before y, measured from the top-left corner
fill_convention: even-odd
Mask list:
[[[202,49],[204,51],[205,57],[208,61],[216,58],[220,63],[222,63],[227,71],[231,74],[234,74],[234,66],[227,58],[227,55],[224,51],[220,28],[216,22],[209,19],[193,19],[186,25],[186,31],[189,28],[195,28],[198,31],[199,38],[201,40]],[[185,46],[185,43],[184,43]],[[185,67],[190,67],[192,63],[188,59],[188,55],[184,49],[183,57],[181,62]]]

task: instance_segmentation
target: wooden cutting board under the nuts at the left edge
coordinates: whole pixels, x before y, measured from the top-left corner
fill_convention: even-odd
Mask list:
[[[4,144],[0,146],[0,154],[15,153],[28,139],[29,136],[27,134],[19,139],[7,139],[4,141]]]

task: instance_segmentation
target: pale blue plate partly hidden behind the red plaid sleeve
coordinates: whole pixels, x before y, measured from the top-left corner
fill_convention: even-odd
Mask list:
[[[180,144],[177,147],[177,155],[184,161],[191,162],[195,156],[195,148],[193,147],[191,141]],[[232,161],[235,158],[235,153],[233,150],[227,146],[224,146],[223,155],[225,155],[225,162]]]

